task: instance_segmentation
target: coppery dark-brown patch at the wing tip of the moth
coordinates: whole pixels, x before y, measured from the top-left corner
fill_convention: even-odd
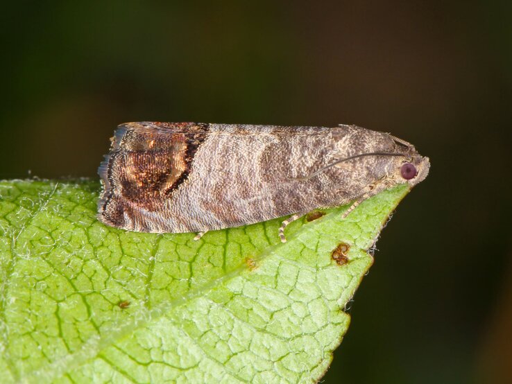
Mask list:
[[[154,211],[162,195],[170,196],[187,180],[207,132],[204,123],[120,125],[99,168],[104,185],[99,202],[103,218],[123,227],[122,212],[130,211],[130,204]]]

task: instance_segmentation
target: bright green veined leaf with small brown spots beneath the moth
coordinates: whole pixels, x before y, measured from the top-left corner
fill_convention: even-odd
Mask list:
[[[280,219],[139,234],[96,219],[96,182],[0,182],[1,382],[316,381],[408,191],[302,218],[282,244]]]

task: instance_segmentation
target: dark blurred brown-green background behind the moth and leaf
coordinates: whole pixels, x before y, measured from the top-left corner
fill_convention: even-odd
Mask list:
[[[0,34],[0,178],[97,179],[126,121],[414,143],[325,383],[512,383],[511,1],[10,1]]]

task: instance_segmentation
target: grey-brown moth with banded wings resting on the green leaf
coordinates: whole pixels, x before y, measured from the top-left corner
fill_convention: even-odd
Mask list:
[[[334,128],[125,123],[99,167],[99,219],[137,232],[207,232],[353,201],[425,179],[407,141]],[[200,236],[200,235],[198,235]]]

